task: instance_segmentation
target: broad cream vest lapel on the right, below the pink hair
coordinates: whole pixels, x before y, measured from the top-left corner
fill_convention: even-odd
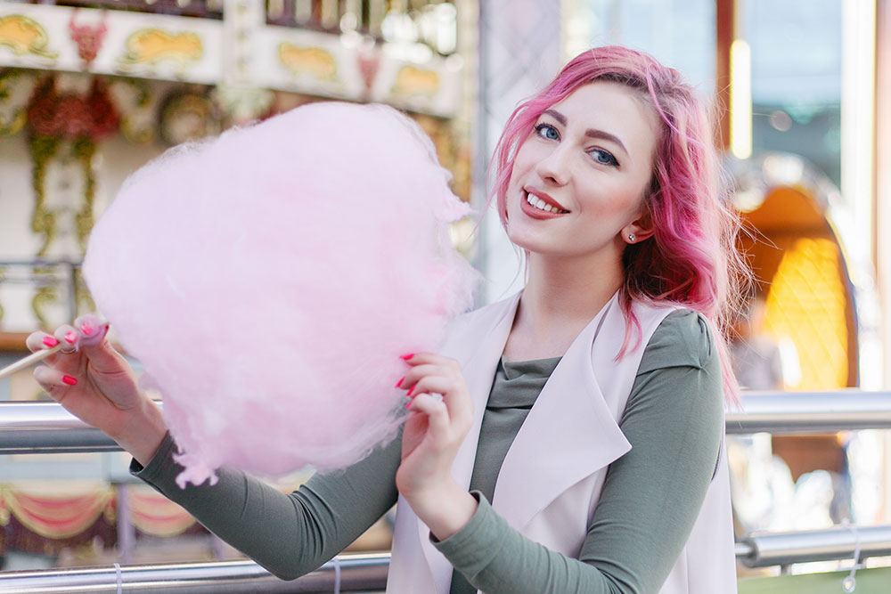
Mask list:
[[[592,368],[609,315],[622,317],[615,296],[569,346],[504,459],[493,506],[519,531],[561,492],[631,449]],[[604,337],[598,347],[617,352],[619,340]]]

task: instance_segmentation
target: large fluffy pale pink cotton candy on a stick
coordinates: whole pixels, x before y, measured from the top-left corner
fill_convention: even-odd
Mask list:
[[[344,468],[395,435],[399,355],[436,351],[472,301],[449,177],[396,110],[327,102],[127,180],[84,274],[164,395],[180,486]]]

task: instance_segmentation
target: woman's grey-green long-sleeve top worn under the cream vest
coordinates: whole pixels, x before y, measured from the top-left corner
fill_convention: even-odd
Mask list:
[[[723,434],[721,368],[707,322],[690,311],[671,313],[646,346],[619,424],[632,449],[609,465],[578,559],[513,530],[487,500],[524,409],[556,362],[499,366],[471,479],[478,509],[461,531],[436,543],[456,569],[452,594],[655,594],[687,541]],[[217,471],[214,486],[181,490],[175,449],[168,436],[145,468],[134,461],[133,472],[284,579],[339,553],[398,494],[398,439],[290,494],[227,468]]]

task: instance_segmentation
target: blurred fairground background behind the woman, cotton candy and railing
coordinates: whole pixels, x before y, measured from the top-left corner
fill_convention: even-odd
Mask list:
[[[30,331],[92,311],[79,273],[92,225],[169,147],[307,102],[384,102],[430,134],[454,192],[482,212],[511,110],[570,57],[609,44],[681,70],[714,107],[758,280],[732,346],[745,387],[830,395],[841,409],[887,396],[891,0],[4,0],[0,367]],[[519,288],[497,217],[455,224],[454,241],[486,277],[481,302]],[[0,401],[40,400],[29,370],[0,380]],[[884,526],[891,555],[879,425],[729,435],[740,541],[852,523]],[[238,557],[135,483],[128,461],[0,453],[2,569]],[[384,520],[354,549],[388,539]],[[790,565],[777,564],[838,563]],[[779,569],[740,565],[764,572]]]

